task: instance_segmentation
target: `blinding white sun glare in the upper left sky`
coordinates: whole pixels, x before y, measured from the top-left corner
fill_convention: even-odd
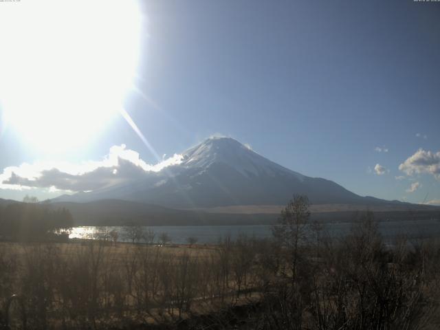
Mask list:
[[[139,54],[131,0],[21,1],[0,11],[0,107],[32,147],[84,146],[120,111]]]

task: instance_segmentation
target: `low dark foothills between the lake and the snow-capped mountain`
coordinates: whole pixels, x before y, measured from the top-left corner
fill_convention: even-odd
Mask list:
[[[10,203],[0,199],[1,209]],[[41,202],[48,208],[65,208],[71,212],[74,225],[269,225],[276,223],[283,206],[229,206],[197,210],[165,208],[153,204],[120,199],[78,202]],[[408,205],[407,205],[408,204]],[[311,221],[325,223],[352,222],[367,210],[377,221],[414,221],[440,219],[440,207],[400,203],[380,206],[312,204]],[[362,217],[361,217],[362,218]]]

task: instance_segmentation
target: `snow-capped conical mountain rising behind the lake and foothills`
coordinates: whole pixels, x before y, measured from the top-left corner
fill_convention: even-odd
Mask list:
[[[230,137],[210,137],[182,154],[181,163],[135,183],[63,196],[58,201],[123,199],[171,208],[285,205],[294,194],[311,203],[380,203],[333,181],[278,165]]]

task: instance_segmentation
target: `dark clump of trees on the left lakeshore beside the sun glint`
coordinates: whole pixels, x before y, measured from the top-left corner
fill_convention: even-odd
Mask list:
[[[0,239],[30,241],[67,236],[73,226],[72,214],[65,208],[52,208],[25,197],[23,203],[0,206]]]

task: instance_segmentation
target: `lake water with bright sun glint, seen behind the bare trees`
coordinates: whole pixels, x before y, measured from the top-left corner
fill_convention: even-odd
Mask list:
[[[332,237],[341,237],[349,233],[353,223],[327,223],[325,230]],[[221,237],[230,236],[236,239],[240,234],[267,238],[272,236],[270,225],[197,225],[197,226],[149,226],[145,230],[155,232],[155,241],[160,234],[166,232],[172,243],[186,243],[188,237],[197,238],[197,243],[217,243]],[[73,228],[71,239],[96,239],[99,234],[118,232],[118,241],[129,241],[123,227],[76,227]],[[409,238],[440,238],[440,220],[425,219],[417,221],[387,221],[379,223],[379,230],[385,241],[392,242],[395,237],[406,235]]]

